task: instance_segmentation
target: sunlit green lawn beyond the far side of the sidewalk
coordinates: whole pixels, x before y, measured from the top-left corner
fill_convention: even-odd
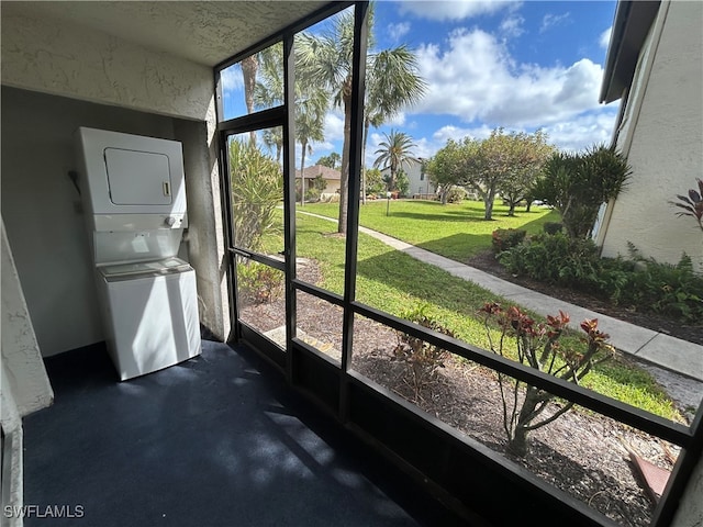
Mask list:
[[[389,215],[386,215],[387,206]],[[300,209],[299,209],[300,210]],[[337,217],[338,203],[312,203],[303,209],[328,217]],[[493,220],[483,220],[483,202],[465,201],[443,205],[438,201],[398,200],[369,201],[360,208],[359,223],[437,255],[466,262],[491,247],[491,233],[496,228],[524,228],[529,234],[542,232],[545,222],[558,222],[559,215],[549,209],[517,208],[507,216],[507,206],[498,202]]]

